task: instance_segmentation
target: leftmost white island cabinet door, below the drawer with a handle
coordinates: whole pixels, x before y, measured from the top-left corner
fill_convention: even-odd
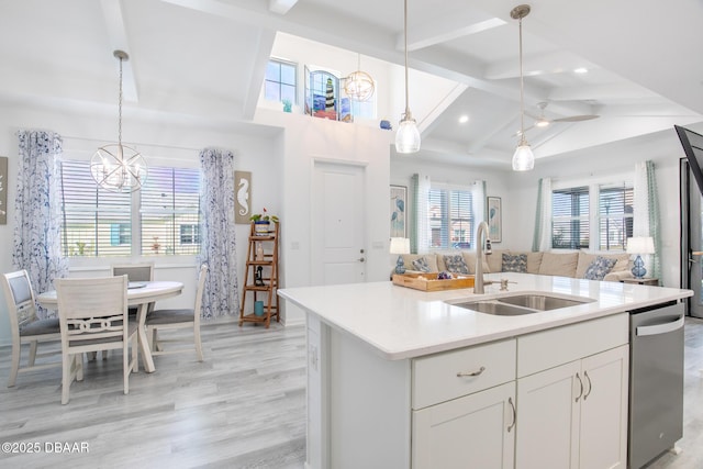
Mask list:
[[[515,383],[413,411],[414,469],[513,468]]]

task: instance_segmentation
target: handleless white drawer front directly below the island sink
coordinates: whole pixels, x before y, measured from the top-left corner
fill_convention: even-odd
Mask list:
[[[629,342],[629,316],[614,314],[517,337],[517,378]]]

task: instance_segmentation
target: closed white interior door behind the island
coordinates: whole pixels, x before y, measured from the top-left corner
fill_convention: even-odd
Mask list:
[[[365,167],[315,161],[312,189],[312,284],[366,280]]]

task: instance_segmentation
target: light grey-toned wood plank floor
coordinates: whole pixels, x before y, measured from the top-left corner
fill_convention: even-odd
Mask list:
[[[0,467],[302,468],[305,459],[305,345],[302,326],[202,326],[205,361],[194,353],[155,357],[157,371],[130,378],[121,359],[87,362],[86,378],[60,405],[60,368],[20,375],[7,388],[9,347],[0,347],[0,443],[38,443],[40,454],[0,453]],[[685,326],[683,453],[650,469],[703,468],[703,321]],[[87,454],[46,453],[46,444],[87,443]]]

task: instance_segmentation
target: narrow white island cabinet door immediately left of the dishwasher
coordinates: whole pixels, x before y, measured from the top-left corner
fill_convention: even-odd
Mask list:
[[[582,360],[580,469],[627,465],[628,362],[628,346]]]

